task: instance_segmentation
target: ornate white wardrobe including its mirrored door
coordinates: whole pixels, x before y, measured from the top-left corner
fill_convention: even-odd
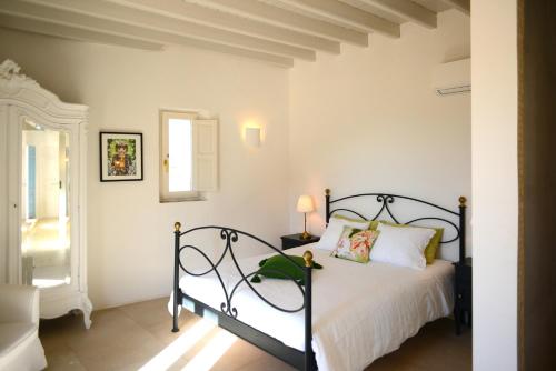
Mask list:
[[[87,113],[0,64],[0,283],[40,288],[41,318],[81,310],[87,294]]]

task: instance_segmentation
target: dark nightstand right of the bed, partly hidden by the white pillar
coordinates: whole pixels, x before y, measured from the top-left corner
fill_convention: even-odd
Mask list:
[[[466,258],[463,263],[454,263],[456,268],[454,318],[456,334],[461,333],[461,324],[471,327],[473,321],[473,259]]]

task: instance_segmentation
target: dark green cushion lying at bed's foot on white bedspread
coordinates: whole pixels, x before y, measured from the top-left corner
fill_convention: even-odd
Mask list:
[[[252,277],[251,282],[259,283],[260,282],[259,275],[264,275],[267,278],[275,278],[280,280],[294,279],[300,284],[305,284],[305,272],[304,270],[299,269],[299,267],[305,267],[304,258],[296,255],[287,255],[287,257],[290,258],[294,262],[288,260],[282,254],[274,255],[268,259],[262,259],[259,262],[260,269],[257,271],[257,274]],[[297,264],[298,267],[296,267],[295,264]],[[312,262],[312,268],[321,269],[322,265]]]

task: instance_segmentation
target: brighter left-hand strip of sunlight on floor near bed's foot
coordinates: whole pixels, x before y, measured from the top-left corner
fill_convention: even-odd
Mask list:
[[[214,328],[215,324],[212,322],[200,320],[186,330],[186,332],[178,339],[172,341],[171,344],[162,349],[162,351],[155,355],[149,362],[143,364],[139,371],[167,370],[181,355],[186,354],[188,350],[193,348]]]

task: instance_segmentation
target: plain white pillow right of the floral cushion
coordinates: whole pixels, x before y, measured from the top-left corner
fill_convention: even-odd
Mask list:
[[[434,229],[391,227],[378,223],[378,234],[370,260],[423,270],[427,267],[425,248],[435,235]]]

